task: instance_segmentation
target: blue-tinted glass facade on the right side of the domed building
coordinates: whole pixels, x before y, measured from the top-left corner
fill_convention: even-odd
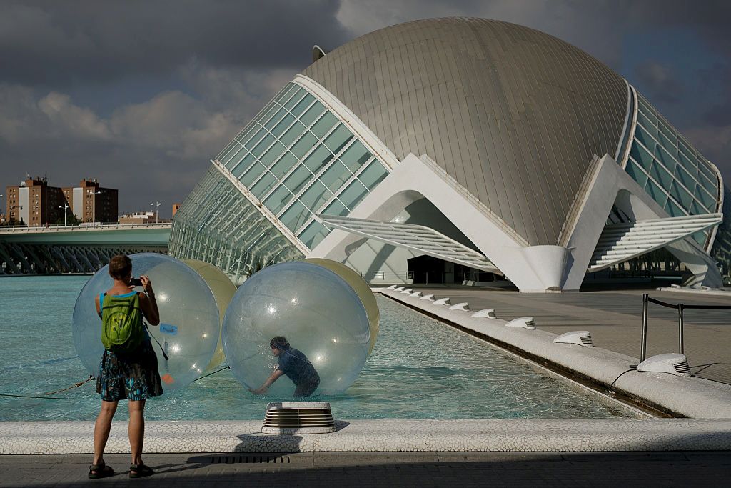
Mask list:
[[[637,124],[625,170],[670,217],[719,211],[716,170],[637,93]],[[708,250],[712,230],[693,238]]]

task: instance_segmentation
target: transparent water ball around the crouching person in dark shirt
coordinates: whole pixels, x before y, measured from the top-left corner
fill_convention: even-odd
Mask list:
[[[294,261],[268,266],[238,288],[223,324],[226,359],[246,388],[259,388],[276,369],[270,340],[282,336],[319,375],[314,394],[341,393],[368,356],[368,315],[357,293],[324,266]],[[268,394],[292,397],[284,375]]]

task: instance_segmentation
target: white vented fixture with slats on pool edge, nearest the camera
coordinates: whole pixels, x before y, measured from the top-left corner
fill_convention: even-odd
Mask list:
[[[329,402],[276,402],[267,405],[264,434],[326,434],[335,432]]]

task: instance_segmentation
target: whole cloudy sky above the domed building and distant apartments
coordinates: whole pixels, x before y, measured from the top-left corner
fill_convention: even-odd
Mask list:
[[[430,17],[520,23],[627,78],[731,181],[731,2],[159,0],[0,2],[0,192],[99,179],[162,217],[314,44]],[[3,199],[4,200],[4,199]],[[0,206],[4,211],[4,201]]]

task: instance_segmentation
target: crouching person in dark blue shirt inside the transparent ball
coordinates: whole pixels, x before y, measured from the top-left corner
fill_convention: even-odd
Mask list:
[[[292,348],[282,336],[273,337],[269,342],[272,354],[277,356],[277,366],[269,378],[259,388],[249,388],[255,395],[265,394],[269,387],[282,375],[295,383],[294,397],[309,397],[319,386],[319,375],[302,351]]]

